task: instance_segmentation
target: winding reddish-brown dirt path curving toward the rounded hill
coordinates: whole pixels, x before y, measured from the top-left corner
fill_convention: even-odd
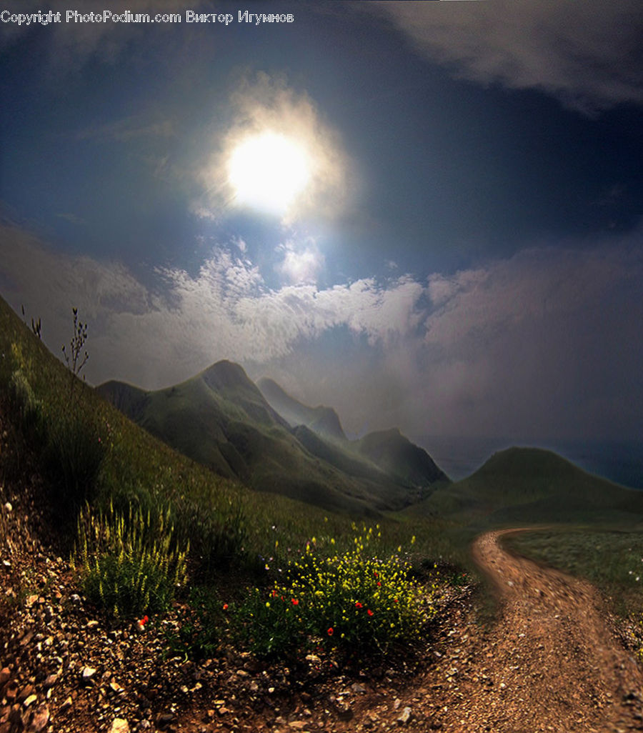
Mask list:
[[[463,704],[443,729],[643,730],[642,674],[606,622],[598,592],[508,553],[499,540],[515,531],[488,532],[474,543],[474,559],[503,606],[480,649],[479,674],[460,685]]]

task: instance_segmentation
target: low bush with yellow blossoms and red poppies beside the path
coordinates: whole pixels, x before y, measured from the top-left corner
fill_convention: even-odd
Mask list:
[[[416,637],[435,614],[433,588],[412,581],[400,556],[375,556],[376,544],[370,529],[352,549],[325,558],[312,539],[284,571],[284,582],[252,589],[233,611],[240,641],[260,656],[326,647],[370,657]]]

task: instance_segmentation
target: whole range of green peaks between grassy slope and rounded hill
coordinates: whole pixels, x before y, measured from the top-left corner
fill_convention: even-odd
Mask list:
[[[119,381],[96,389],[148,432],[216,473],[326,509],[402,509],[449,482],[399,430],[349,441],[332,408],[310,408],[273,380],[255,384],[231,361],[157,391]]]

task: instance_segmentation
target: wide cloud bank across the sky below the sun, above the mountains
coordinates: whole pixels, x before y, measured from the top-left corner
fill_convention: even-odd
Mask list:
[[[229,358],[299,399],[338,408],[351,432],[397,424],[410,435],[622,438],[643,430],[640,230],[422,280],[320,288],[300,275],[272,288],[238,242],[213,248],[194,274],[156,270],[143,284],[118,262],[54,254],[23,229],[2,229],[4,297],[43,318],[54,353],[78,306],[89,322],[92,383],[158,388]]]

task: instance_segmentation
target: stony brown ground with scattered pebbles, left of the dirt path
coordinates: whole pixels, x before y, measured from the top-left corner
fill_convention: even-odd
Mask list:
[[[69,562],[48,541],[51,531],[34,492],[6,494],[0,507],[0,733],[431,724],[426,700],[405,690],[426,668],[426,655],[431,663],[440,660],[444,641],[438,639],[453,635],[447,608],[465,608],[466,589],[445,595],[434,638],[419,641],[422,651],[413,659],[344,671],[312,654],[289,668],[222,648],[216,658],[194,663],[173,655],[168,644],[179,625],[179,604],[143,626],[110,622],[79,594]]]

